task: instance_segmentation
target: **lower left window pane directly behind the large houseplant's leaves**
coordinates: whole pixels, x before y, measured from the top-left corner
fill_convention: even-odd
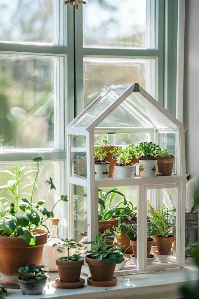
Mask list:
[[[43,205],[43,207],[47,208],[48,211],[51,211],[53,208],[53,205],[56,203],[56,201],[59,199],[60,194],[60,186],[57,185],[57,182],[59,182],[58,173],[60,173],[61,168],[63,167],[64,162],[39,162],[39,175],[37,177],[37,186],[38,190],[34,190],[33,195],[33,202],[38,202],[39,199],[46,200],[46,203]],[[13,177],[9,173],[1,172],[1,170],[9,170],[12,173],[14,173],[14,168],[18,165],[19,167],[25,167],[22,172],[21,176],[25,174],[29,170],[36,170],[37,164],[36,162],[20,162],[20,163],[6,163],[6,164],[0,164],[0,182],[1,186],[7,185],[7,182],[10,180],[13,180]],[[36,172],[28,173],[27,176],[22,180],[21,184],[19,185],[18,194],[20,194],[22,188],[26,186],[28,183],[32,183],[33,179],[35,178]],[[63,176],[63,174],[60,174]],[[56,190],[52,189],[50,190],[50,185],[46,184],[46,180],[49,180],[49,178],[52,179]],[[22,198],[30,199],[30,193],[32,191],[32,187],[27,187],[22,191],[21,196],[19,197],[19,200]],[[10,195],[9,191],[1,190],[1,198],[5,197],[6,199],[9,199],[13,202],[13,197]],[[4,200],[1,199],[1,203],[3,203]],[[54,216],[59,218],[60,215],[60,205],[58,204],[56,208],[53,210]],[[22,213],[21,210],[19,210],[19,213]],[[39,212],[38,212],[39,213]],[[41,216],[43,216],[41,214]],[[46,217],[45,217],[46,218]],[[50,219],[46,220],[44,223],[48,229],[51,228],[51,221]],[[46,229],[44,227],[44,229]]]

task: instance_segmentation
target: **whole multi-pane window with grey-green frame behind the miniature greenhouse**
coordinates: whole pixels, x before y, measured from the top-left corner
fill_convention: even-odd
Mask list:
[[[172,6],[169,4],[167,11],[160,0],[122,2],[89,0],[75,12],[71,5],[63,5],[63,0],[0,1],[0,170],[11,170],[16,164],[29,170],[34,167],[32,159],[41,156],[38,196],[52,203],[67,193],[65,127],[101,91],[112,84],[138,81],[162,105],[173,106],[169,102],[173,92],[168,93],[168,103],[164,100],[165,86],[171,82],[164,75],[163,34],[166,13],[171,16]],[[176,8],[172,19],[176,19]],[[168,78],[174,77],[171,70],[175,71],[173,64]],[[117,110],[113,117],[119,113]],[[123,125],[128,121],[127,116]],[[137,127],[140,123],[138,120]],[[112,134],[107,130],[105,136],[114,145],[138,144],[153,140],[155,134],[147,126],[142,133],[135,130],[129,134],[123,129]],[[95,137],[99,132],[97,128]],[[155,136],[164,147],[169,144],[175,150],[174,134],[160,132]],[[78,151],[71,148],[72,175],[79,173],[85,178],[86,158],[83,164],[78,158],[86,157],[85,138],[74,135],[72,141],[74,146],[79,143]],[[56,191],[47,193],[45,180],[49,177]],[[2,184],[8,179],[0,173]],[[82,209],[87,210],[86,190],[76,185],[71,188]],[[69,208],[68,215],[75,213],[74,209]],[[58,207],[57,215],[63,236],[69,219],[66,205]],[[69,231],[75,231],[77,237],[79,224],[73,221],[68,220]],[[82,216],[80,222],[82,229]]]

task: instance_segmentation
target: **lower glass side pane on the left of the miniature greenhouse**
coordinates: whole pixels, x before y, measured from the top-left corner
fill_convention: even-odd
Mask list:
[[[87,188],[71,184],[70,201],[70,237],[75,242],[83,241],[87,237]]]

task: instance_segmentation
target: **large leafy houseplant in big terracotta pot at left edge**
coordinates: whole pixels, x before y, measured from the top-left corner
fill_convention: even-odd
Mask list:
[[[36,180],[42,158],[34,158],[33,161],[36,162],[36,170],[24,173],[25,167],[16,166],[13,167],[14,172],[1,171],[12,178],[7,185],[1,186],[1,190],[9,192],[13,201],[1,198],[1,202],[4,203],[0,209],[0,273],[16,274],[21,266],[41,263],[43,247],[47,242],[47,232],[42,230],[42,227],[46,228],[45,221],[53,217],[56,204],[59,201],[67,201],[67,196],[62,195],[50,211],[44,207],[43,199],[33,203],[34,191],[38,190]],[[30,173],[35,173],[34,179],[29,179],[27,184],[23,184]],[[51,178],[46,182],[50,189],[55,189]],[[30,188],[31,192],[27,192]],[[29,199],[24,198],[25,195]]]

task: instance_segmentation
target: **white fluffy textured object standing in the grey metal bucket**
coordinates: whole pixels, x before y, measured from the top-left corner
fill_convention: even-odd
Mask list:
[[[191,213],[194,205],[194,193],[198,186],[198,177],[195,176],[186,184],[186,213]]]

